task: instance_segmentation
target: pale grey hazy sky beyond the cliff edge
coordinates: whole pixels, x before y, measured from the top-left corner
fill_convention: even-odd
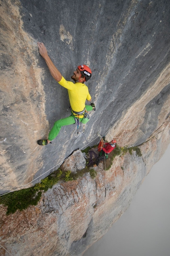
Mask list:
[[[83,256],[170,256],[170,145],[127,211]]]

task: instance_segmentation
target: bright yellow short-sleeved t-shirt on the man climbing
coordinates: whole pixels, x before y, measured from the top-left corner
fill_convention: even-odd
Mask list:
[[[72,110],[81,112],[85,108],[85,101],[90,100],[88,87],[82,83],[66,81],[64,77],[58,82],[61,86],[68,89],[68,96]]]

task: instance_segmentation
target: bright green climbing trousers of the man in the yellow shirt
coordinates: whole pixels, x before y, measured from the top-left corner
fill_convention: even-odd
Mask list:
[[[93,110],[93,107],[91,105],[85,105],[85,108],[87,111]],[[49,141],[52,141],[53,139],[55,139],[55,137],[57,137],[62,126],[74,124],[75,118],[76,117],[73,114],[71,114],[70,116],[68,116],[66,118],[62,118],[62,119],[56,121],[54,123],[53,128],[49,132],[49,136],[48,136]],[[82,120],[83,120],[83,118],[79,118],[79,122],[81,122]]]

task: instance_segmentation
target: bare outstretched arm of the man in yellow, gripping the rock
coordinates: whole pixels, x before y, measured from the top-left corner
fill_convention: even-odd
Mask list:
[[[52,60],[49,58],[45,45],[40,42],[38,42],[37,44],[38,44],[39,52],[40,52],[41,56],[44,58],[52,77],[57,82],[60,82],[62,79],[62,75],[61,75],[60,71],[57,69],[57,67],[55,67]]]

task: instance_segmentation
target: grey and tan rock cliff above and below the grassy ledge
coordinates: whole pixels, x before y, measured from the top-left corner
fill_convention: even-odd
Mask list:
[[[60,182],[36,207],[6,216],[1,206],[1,244],[13,255],[82,255],[123,214],[164,153],[169,13],[168,0],[0,2],[0,194],[38,183],[71,152],[99,142],[97,131],[119,146],[141,144],[142,151],[140,158],[135,152],[117,157],[106,173],[100,165],[94,180],[86,174]],[[37,41],[67,80],[77,65],[91,67],[87,86],[96,111],[89,113],[85,137],[70,125],[53,144],[36,143],[70,115],[68,92],[51,77]]]

